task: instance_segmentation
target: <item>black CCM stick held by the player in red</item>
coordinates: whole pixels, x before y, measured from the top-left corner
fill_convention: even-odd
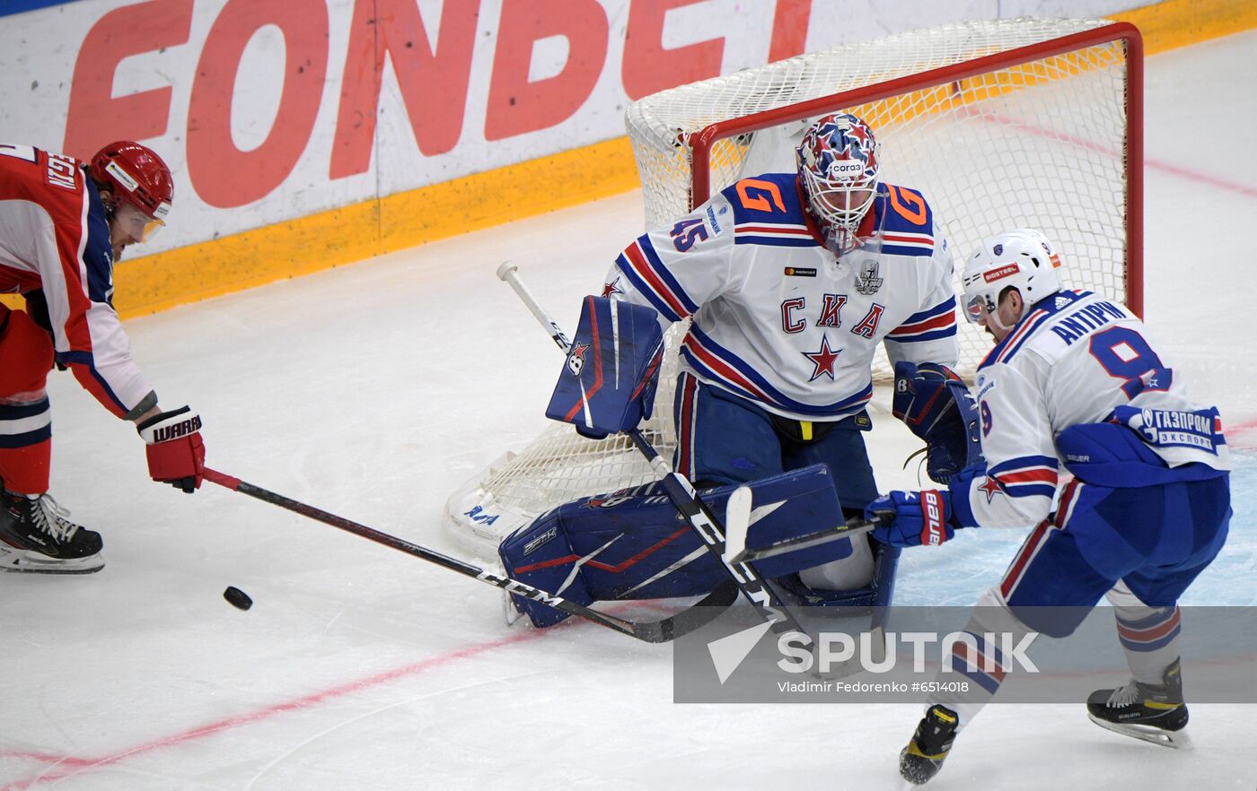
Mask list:
[[[608,629],[615,629],[630,637],[635,637],[639,640],[645,640],[647,643],[666,643],[676,637],[680,637],[688,632],[693,632],[699,627],[709,623],[719,613],[724,611],[724,608],[733,604],[734,599],[738,598],[738,589],[732,583],[723,584],[706,595],[701,601],[681,610],[676,615],[665,618],[664,620],[655,622],[631,622],[623,618],[616,618],[615,615],[608,615],[606,613],[600,613],[595,609],[587,608],[583,604],[577,604],[576,601],[569,601],[562,596],[541,590],[539,588],[533,588],[532,585],[525,585],[518,580],[499,576],[485,569],[473,566],[469,562],[456,560],[447,555],[442,555],[435,550],[430,550],[417,544],[411,544],[397,536],[391,536],[387,532],[380,532],[373,527],[367,527],[366,525],[360,525],[358,522],[344,519],[343,516],[337,516],[334,514],[328,514],[316,508],[314,506],[305,505],[304,502],[298,502],[278,495],[275,492],[261,488],[260,486],[254,486],[241,481],[240,478],[225,475],[216,470],[204,468],[204,475],[206,481],[211,481],[230,488],[234,492],[240,492],[241,495],[249,495],[261,500],[263,502],[269,502],[277,505],[282,508],[288,508],[300,514],[302,516],[308,516],[309,519],[323,522],[324,525],[331,525],[332,527],[338,527],[346,532],[352,532],[356,536],[367,539],[368,541],[375,541],[376,544],[382,544],[385,546],[392,547],[400,552],[406,552],[407,555],[414,555],[429,562],[435,562],[439,566],[444,566],[450,571],[458,571],[464,576],[470,576],[471,579],[480,580],[493,585],[494,588],[500,588],[508,593],[518,594],[532,599],[533,601],[541,601],[556,609],[563,610],[572,615],[577,615],[586,620],[591,620],[600,627],[606,627]],[[710,608],[710,609],[706,609]]]

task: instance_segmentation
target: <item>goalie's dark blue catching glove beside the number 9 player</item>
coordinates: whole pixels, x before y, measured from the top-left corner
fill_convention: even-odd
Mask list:
[[[895,363],[891,413],[925,441],[925,472],[936,483],[980,463],[978,408],[964,380],[947,365]]]

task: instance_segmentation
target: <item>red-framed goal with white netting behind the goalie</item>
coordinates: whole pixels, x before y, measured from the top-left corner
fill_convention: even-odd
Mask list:
[[[798,55],[635,102],[626,114],[646,226],[665,227],[739,178],[794,170],[815,119],[847,110],[881,143],[881,180],[919,190],[957,261],[985,236],[1042,230],[1068,288],[1143,311],[1143,41],[1107,20],[1007,19],[943,25]],[[596,277],[597,274],[591,276]],[[675,447],[674,325],[655,414],[642,429]],[[989,339],[958,319],[962,374]],[[875,377],[890,367],[879,352]],[[593,442],[554,424],[446,503],[473,551],[494,551],[520,524],[577,497],[654,480],[625,437]]]

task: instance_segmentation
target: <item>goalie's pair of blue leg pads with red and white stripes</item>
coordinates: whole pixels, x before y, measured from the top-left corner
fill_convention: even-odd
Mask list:
[[[810,535],[842,521],[833,480],[823,465],[750,485],[753,524],[747,546],[755,549]],[[701,492],[723,515],[737,486]],[[835,560],[845,541],[798,550],[755,564],[763,576],[791,574]],[[612,599],[696,596],[727,579],[723,566],[678,514],[657,485],[597,495],[564,503],[508,536],[499,547],[507,573],[522,583],[582,604]],[[535,625],[564,614],[515,598]]]

